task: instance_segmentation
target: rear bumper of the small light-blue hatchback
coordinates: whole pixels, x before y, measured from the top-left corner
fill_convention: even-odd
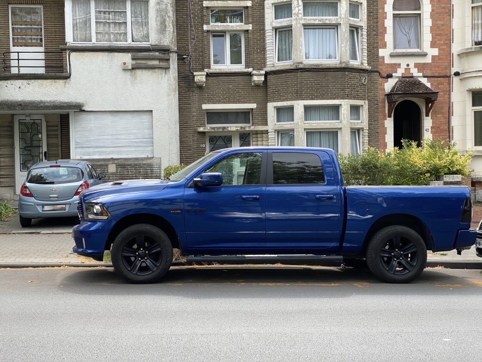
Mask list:
[[[78,216],[77,205],[79,197],[74,196],[69,200],[62,201],[40,201],[33,197],[25,197],[20,195],[19,198],[19,214],[27,219],[37,219],[41,217],[73,217]],[[65,205],[62,211],[42,211],[42,206]]]

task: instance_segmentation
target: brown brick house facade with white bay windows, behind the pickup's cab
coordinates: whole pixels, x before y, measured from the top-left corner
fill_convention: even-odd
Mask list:
[[[181,162],[222,147],[379,146],[378,3],[176,3]]]

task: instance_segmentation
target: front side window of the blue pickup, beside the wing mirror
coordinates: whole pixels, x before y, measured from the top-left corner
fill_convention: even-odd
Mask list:
[[[260,185],[261,153],[237,153],[223,158],[206,172],[220,172],[222,185]]]

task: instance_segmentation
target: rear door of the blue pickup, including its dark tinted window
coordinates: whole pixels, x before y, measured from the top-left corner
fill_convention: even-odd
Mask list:
[[[341,195],[328,153],[268,152],[267,247],[274,253],[336,251]]]

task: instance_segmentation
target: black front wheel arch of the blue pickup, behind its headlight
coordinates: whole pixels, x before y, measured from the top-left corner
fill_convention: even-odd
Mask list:
[[[128,228],[129,226],[136,224],[149,224],[158,227],[159,229],[164,231],[169,237],[173,248],[180,248],[179,238],[176,230],[169,221],[159,215],[142,213],[128,215],[118,220],[110,230],[109,235],[107,236],[104,250],[110,250],[110,247],[117,235],[119,235],[124,229]]]

